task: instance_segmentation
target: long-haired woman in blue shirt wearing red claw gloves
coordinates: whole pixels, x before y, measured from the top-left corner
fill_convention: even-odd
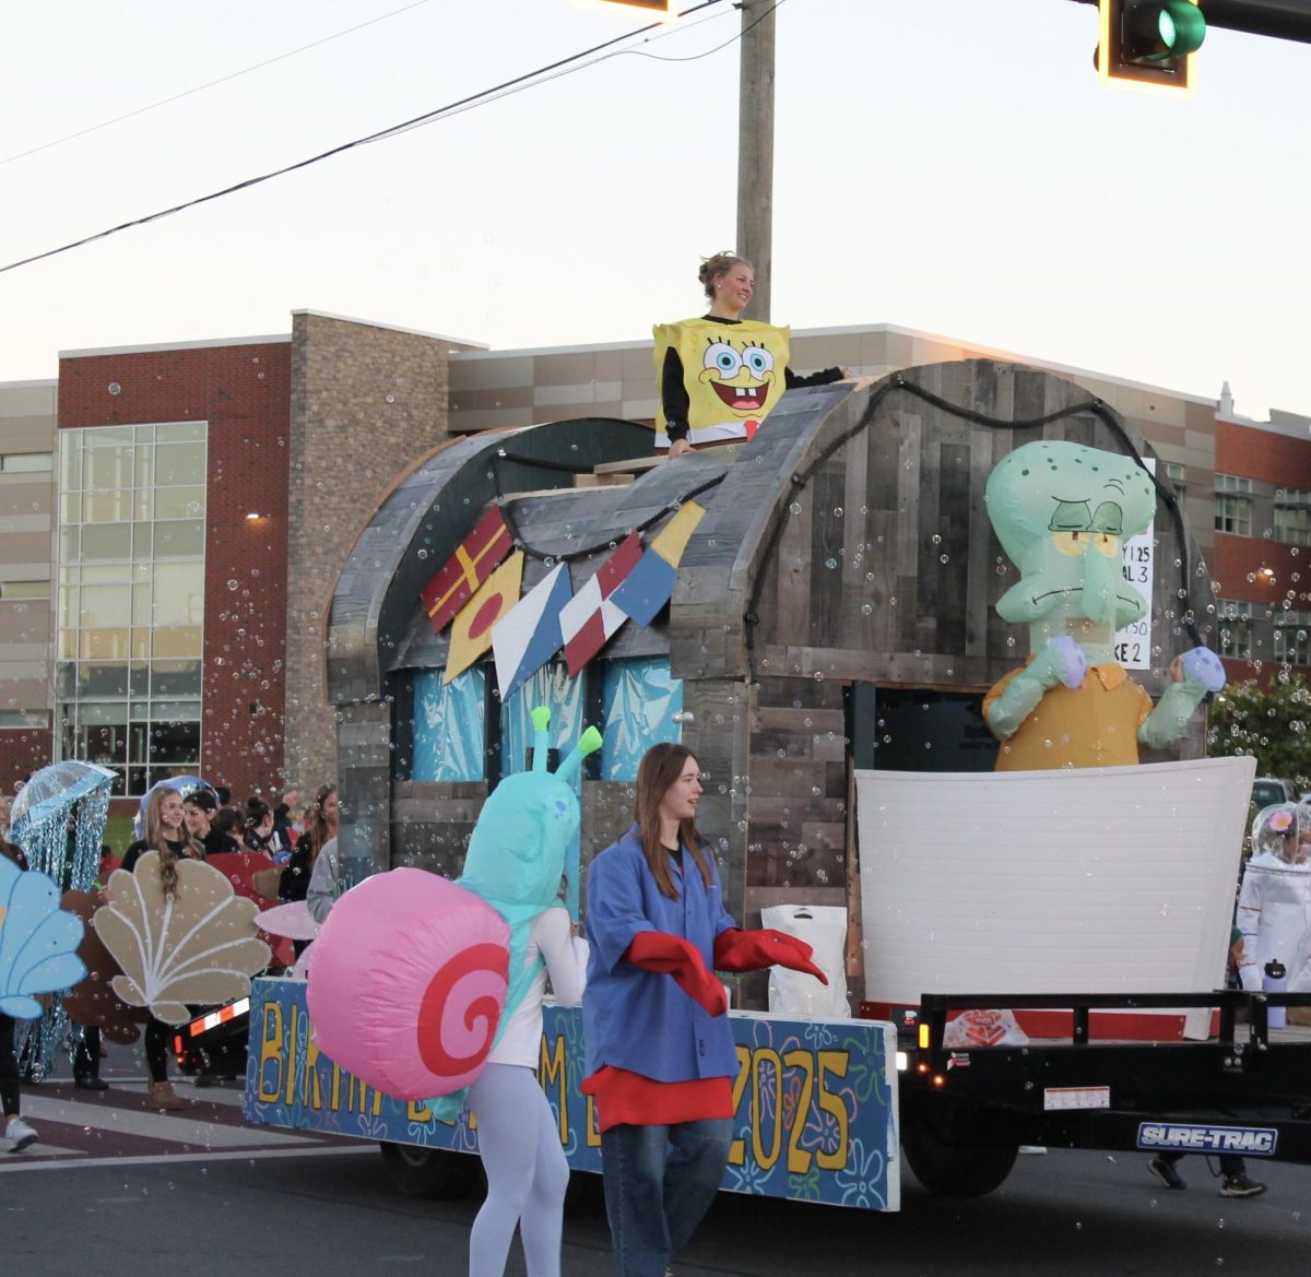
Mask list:
[[[619,1277],[665,1277],[718,1192],[738,1062],[714,968],[810,972],[810,947],[741,931],[696,830],[700,767],[661,743],[637,770],[633,825],[587,872],[585,1093],[597,1101]]]

